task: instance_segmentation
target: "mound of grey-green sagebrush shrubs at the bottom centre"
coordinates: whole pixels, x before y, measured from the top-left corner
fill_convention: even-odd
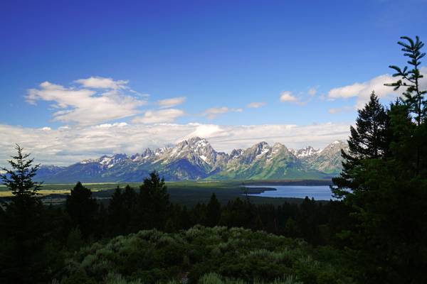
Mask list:
[[[117,236],[75,253],[63,283],[352,283],[345,259],[330,247],[302,239],[224,226],[194,226],[173,234],[157,230]],[[117,281],[117,282],[116,282]]]

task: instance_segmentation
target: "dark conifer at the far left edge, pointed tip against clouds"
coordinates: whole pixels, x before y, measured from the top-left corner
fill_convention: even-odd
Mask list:
[[[39,165],[33,166],[21,146],[16,145],[16,151],[8,161],[11,169],[1,168],[6,173],[0,175],[14,195],[5,204],[1,224],[0,283],[33,283],[43,274],[36,261],[44,243],[43,204],[36,197],[40,184],[33,181]]]

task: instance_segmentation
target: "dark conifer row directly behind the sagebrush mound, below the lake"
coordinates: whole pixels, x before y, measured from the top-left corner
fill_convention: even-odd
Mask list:
[[[285,202],[280,206],[253,204],[244,197],[221,204],[215,194],[207,204],[186,207],[170,202],[164,180],[154,172],[138,190],[129,185],[117,187],[107,208],[78,182],[63,214],[70,219],[68,230],[78,229],[83,239],[109,238],[142,229],[174,232],[199,224],[243,227],[329,244],[344,226],[342,216],[348,210],[341,202],[320,203],[308,197],[301,204]]]

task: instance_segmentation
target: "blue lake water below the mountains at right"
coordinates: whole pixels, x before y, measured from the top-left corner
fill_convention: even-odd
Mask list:
[[[305,198],[306,196],[315,200],[331,200],[332,192],[329,185],[249,185],[246,187],[268,187],[275,190],[265,190],[260,194],[251,196],[259,197],[295,197]]]

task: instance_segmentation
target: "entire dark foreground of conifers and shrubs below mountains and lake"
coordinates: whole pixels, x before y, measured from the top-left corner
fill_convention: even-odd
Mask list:
[[[337,200],[186,207],[152,172],[107,205],[77,182],[46,206],[38,165],[16,146],[1,180],[0,283],[427,283],[427,97],[423,43],[399,41],[402,96],[375,92],[350,126]],[[144,177],[142,177],[144,178]]]

